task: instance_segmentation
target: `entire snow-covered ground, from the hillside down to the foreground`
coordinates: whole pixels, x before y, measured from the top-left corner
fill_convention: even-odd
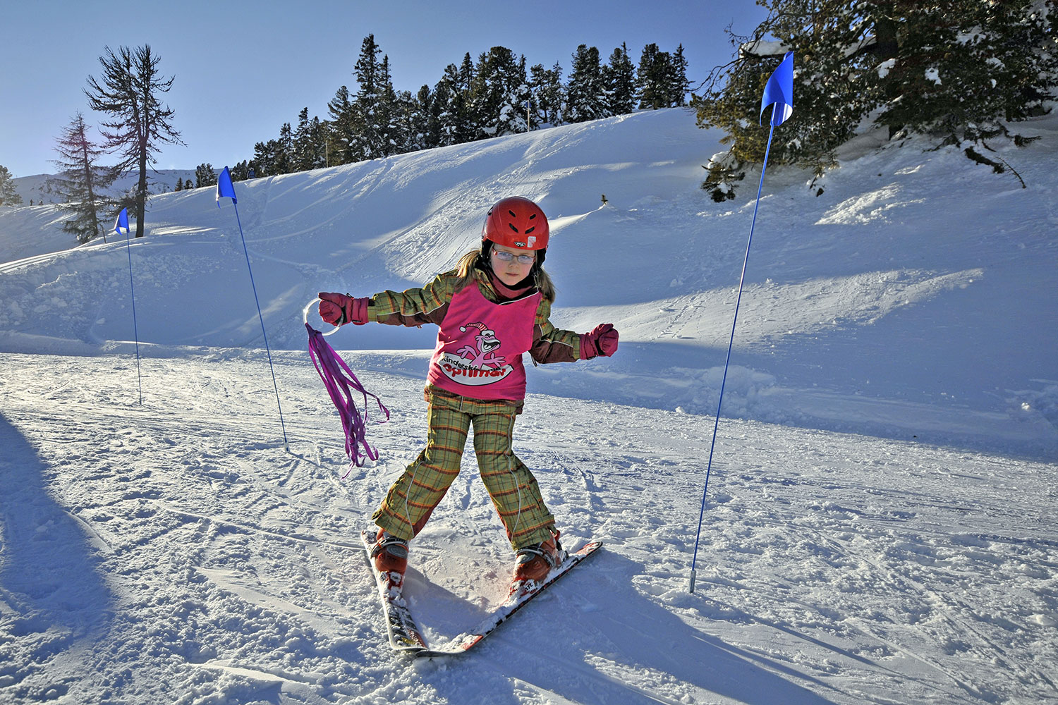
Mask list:
[[[1018,127],[1026,188],[870,133],[810,188],[769,167],[696,553],[760,171],[712,202],[688,111],[236,183],[275,386],[230,200],[75,248],[55,207],[0,208],[0,703],[1058,700],[1058,120]],[[551,220],[553,322],[621,333],[530,367],[514,431],[564,542],[605,545],[409,660],[358,534],[423,444],[435,331],[328,338],[391,411],[343,477],[303,310],[425,282],[514,193]],[[426,637],[512,561],[467,453],[412,544]]]

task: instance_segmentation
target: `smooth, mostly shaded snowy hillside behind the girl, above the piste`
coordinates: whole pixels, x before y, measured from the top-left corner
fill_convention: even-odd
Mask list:
[[[735,336],[729,413],[992,447],[1056,441],[1058,148],[1006,156],[1029,185],[957,150],[850,145],[822,182],[776,169],[761,204]],[[540,200],[553,222],[555,321],[612,320],[622,355],[544,369],[535,391],[712,413],[752,212],[697,188],[717,135],[683,110],[646,112],[473,145],[238,184],[270,342],[304,346],[320,290],[369,294],[443,271],[477,241],[504,194]],[[925,146],[925,145],[924,145]],[[606,204],[602,203],[602,196]],[[56,227],[53,214],[0,214],[0,247]],[[32,210],[32,209],[31,209]],[[37,220],[32,220],[32,218]],[[213,189],[150,201],[132,247],[140,340],[258,347],[260,324],[231,204]],[[0,258],[3,259],[3,258]],[[14,258],[10,258],[14,259]],[[0,336],[96,345],[133,338],[122,242],[3,265]],[[432,332],[371,327],[350,349],[424,349]],[[603,379],[620,384],[599,384]]]

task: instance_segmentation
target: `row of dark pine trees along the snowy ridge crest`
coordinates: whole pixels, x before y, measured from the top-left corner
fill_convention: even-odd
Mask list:
[[[656,44],[650,48],[650,61],[656,64],[651,73],[656,80],[647,91],[652,107],[654,103],[657,107],[681,105],[687,87],[682,45],[675,63],[668,54],[659,54]],[[368,35],[354,67],[355,95],[343,86],[328,103],[329,120],[309,120],[307,111],[302,111],[295,130],[285,125],[278,140],[257,143],[258,175],[463,144],[524,132],[541,124],[561,125],[634,110],[643,90],[627,48],[622,44],[614,50],[605,67],[600,64],[597,49],[582,45],[579,52],[570,75],[572,103],[560,62],[551,69],[536,64],[527,72],[525,57],[515,58],[505,47],[480,54],[476,64],[466,53],[460,64],[445,68],[433,90],[423,86],[412,94],[395,90],[389,57],[379,59],[382,51],[375,36]]]

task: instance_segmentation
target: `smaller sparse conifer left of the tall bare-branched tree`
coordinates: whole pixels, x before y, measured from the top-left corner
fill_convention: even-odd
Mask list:
[[[89,138],[88,129],[85,116],[77,112],[56,142],[59,159],[53,164],[59,174],[51,180],[60,208],[72,216],[62,223],[62,230],[72,234],[77,242],[88,242],[103,233],[99,216],[114,204],[105,191],[117,178],[113,167],[99,166],[104,151]]]

